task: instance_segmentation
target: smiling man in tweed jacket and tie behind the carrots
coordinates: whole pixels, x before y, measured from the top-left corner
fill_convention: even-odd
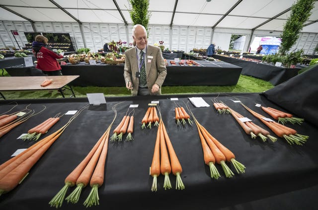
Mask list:
[[[133,26],[136,46],[125,51],[124,78],[132,96],[160,95],[167,74],[159,47],[148,45],[147,31],[143,25]]]

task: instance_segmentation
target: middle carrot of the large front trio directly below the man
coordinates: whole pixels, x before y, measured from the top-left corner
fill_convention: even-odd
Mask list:
[[[162,124],[162,120],[160,121],[160,123]],[[171,188],[171,183],[169,179],[169,174],[171,173],[171,165],[170,165],[162,129],[160,130],[160,154],[161,154],[160,172],[162,175],[164,175],[163,187],[164,187],[164,190],[166,190]]]

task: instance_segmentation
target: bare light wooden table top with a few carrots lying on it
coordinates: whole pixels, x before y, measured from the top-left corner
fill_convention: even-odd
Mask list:
[[[79,75],[0,77],[0,91],[56,90],[63,88],[78,77]],[[48,86],[41,87],[40,85],[46,79],[52,79],[53,82]]]

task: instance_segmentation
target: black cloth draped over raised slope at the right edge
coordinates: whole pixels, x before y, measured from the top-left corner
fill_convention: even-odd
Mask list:
[[[262,93],[286,110],[318,126],[318,66]],[[295,102],[297,105],[295,105]]]

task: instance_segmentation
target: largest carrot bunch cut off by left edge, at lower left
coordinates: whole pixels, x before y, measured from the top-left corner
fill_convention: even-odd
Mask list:
[[[28,175],[29,170],[36,164],[42,155],[50,148],[56,139],[63,133],[68,125],[88,107],[82,107],[71,119],[59,130],[41,139],[20,154],[12,157],[0,165],[0,195],[13,190]]]

